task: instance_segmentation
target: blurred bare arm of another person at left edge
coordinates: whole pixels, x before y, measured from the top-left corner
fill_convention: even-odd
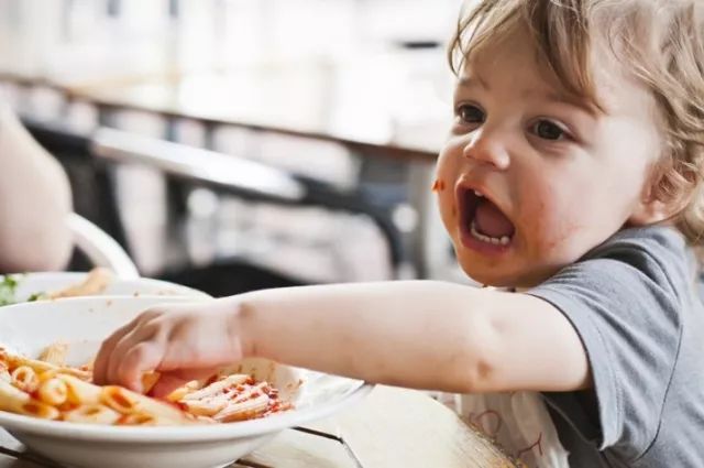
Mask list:
[[[63,269],[70,187],[61,165],[0,105],[0,272]]]

